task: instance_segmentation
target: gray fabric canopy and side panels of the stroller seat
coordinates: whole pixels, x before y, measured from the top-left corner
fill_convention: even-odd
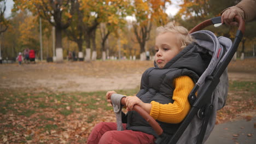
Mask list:
[[[211,75],[214,68],[217,67],[218,62],[223,61],[223,58],[219,56],[222,56],[223,52],[230,50],[230,47],[232,46],[232,41],[225,37],[217,38],[216,35],[214,35],[210,31],[197,31],[192,33],[191,35],[196,39],[196,44],[200,46],[200,49],[198,49],[197,51],[202,53],[208,53],[212,56],[208,68],[197,81],[197,85],[201,87],[205,82],[206,76]],[[225,56],[226,55],[224,55],[224,57]],[[229,87],[227,69],[225,69],[219,80],[220,82],[212,94],[212,105],[214,106],[214,109],[207,125],[203,143],[208,139],[214,128],[217,110],[222,109],[222,107],[225,105]],[[200,93],[200,90],[201,89],[199,88],[198,93]],[[196,143],[197,135],[199,135],[200,133],[202,122],[202,119],[200,119],[198,116],[195,116],[177,143]]]

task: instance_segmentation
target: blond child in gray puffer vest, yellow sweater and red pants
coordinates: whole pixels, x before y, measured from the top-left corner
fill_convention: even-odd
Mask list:
[[[88,143],[154,143],[158,135],[136,111],[135,104],[146,110],[160,124],[164,133],[172,135],[187,115],[188,95],[205,70],[196,44],[181,26],[173,22],[156,29],[154,68],[147,69],[136,97],[126,97],[124,131],[116,123],[102,122],[92,130]],[[106,94],[110,102],[109,91]]]

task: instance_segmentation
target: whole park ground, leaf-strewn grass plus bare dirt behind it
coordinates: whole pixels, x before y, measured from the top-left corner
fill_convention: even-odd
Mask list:
[[[255,62],[230,63],[229,95],[217,124],[255,117]],[[115,122],[106,91],[136,94],[140,75],[152,66],[139,61],[0,65],[0,143],[86,143],[95,124]],[[106,88],[100,85],[104,81]],[[89,85],[96,91],[86,91]],[[113,87],[118,85],[123,86]],[[75,87],[80,88],[72,91]]]

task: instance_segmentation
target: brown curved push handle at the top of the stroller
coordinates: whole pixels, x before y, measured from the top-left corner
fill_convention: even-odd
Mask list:
[[[236,15],[235,16],[235,21],[239,23],[238,30],[240,30],[242,33],[245,33],[245,21],[243,20],[243,18]],[[216,23],[221,23],[221,16],[213,17],[212,19],[208,19],[206,21],[203,21],[203,22],[199,23],[199,25],[197,25],[193,29],[191,29],[189,31],[189,33],[200,31],[203,28],[205,28],[207,26],[211,26],[211,25],[216,24]]]

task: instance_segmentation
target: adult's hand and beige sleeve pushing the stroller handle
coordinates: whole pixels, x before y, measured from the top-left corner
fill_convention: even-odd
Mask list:
[[[256,20],[256,0],[242,0],[233,7],[222,11],[222,23],[230,26],[238,26],[234,21],[235,15],[243,18],[246,22]]]

